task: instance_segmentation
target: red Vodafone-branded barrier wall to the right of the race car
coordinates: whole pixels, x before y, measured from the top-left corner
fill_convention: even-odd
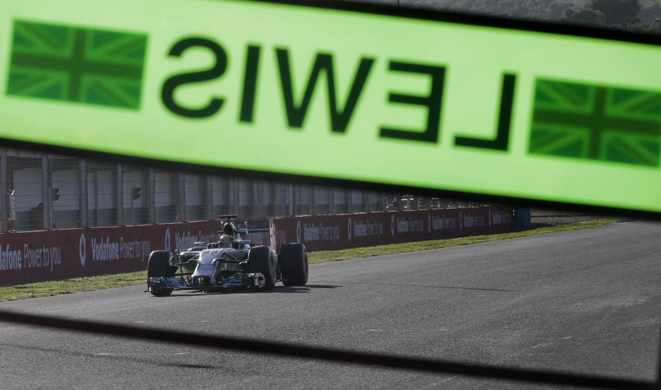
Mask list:
[[[503,206],[298,216],[273,220],[271,246],[319,251],[511,231],[512,208]]]

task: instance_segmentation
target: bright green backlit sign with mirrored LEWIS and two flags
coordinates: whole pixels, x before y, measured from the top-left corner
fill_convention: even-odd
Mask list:
[[[661,212],[661,46],[280,3],[3,0],[0,138]]]

